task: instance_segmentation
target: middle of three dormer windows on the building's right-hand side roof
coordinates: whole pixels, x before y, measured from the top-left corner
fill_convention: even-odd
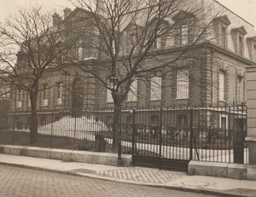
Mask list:
[[[233,42],[236,49],[236,54],[243,56],[244,55],[244,36],[247,34],[247,31],[244,26],[231,30]]]

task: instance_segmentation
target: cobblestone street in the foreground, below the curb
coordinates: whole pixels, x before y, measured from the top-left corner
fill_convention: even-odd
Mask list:
[[[207,196],[0,165],[0,196]],[[213,195],[208,195],[213,196]]]

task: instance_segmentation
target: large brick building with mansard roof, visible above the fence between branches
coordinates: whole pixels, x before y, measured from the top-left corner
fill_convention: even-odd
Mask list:
[[[194,61],[195,67],[186,67],[189,61],[178,61],[175,72],[167,76],[153,75],[148,77],[149,84],[137,78],[131,84],[125,107],[154,107],[171,106],[174,104],[211,105],[216,103],[246,101],[246,67],[256,63],[256,34],[254,26],[221,4],[213,1],[216,8],[225,9],[223,15],[215,18],[209,29],[211,41],[199,49],[201,58]],[[63,21],[74,20],[79,14],[86,14],[84,10],[65,9]],[[176,17],[179,17],[179,12]],[[54,23],[60,18],[54,16]],[[172,19],[175,20],[175,17]],[[75,21],[75,20],[74,20]],[[188,20],[189,21],[189,20]],[[181,26],[181,32],[189,32],[187,26]],[[93,31],[93,30],[92,30]],[[127,30],[127,42],[133,42],[132,28]],[[161,39],[154,44],[154,50],[161,49],[159,58],[168,59],[176,49],[182,49],[189,43],[189,36],[181,33],[173,40]],[[129,44],[128,44],[129,45]],[[102,64],[104,58],[92,50],[90,42],[81,39],[75,55],[81,64],[93,67]],[[18,64],[19,61],[18,56]],[[148,61],[148,65],[155,66],[158,62]],[[99,71],[100,72],[100,71]],[[106,90],[100,82],[88,74],[86,78],[63,74],[54,68],[44,73],[40,84],[41,92],[38,96],[38,111],[61,110],[86,107],[113,107],[111,92]],[[29,114],[30,101],[28,94],[16,90],[12,94],[10,111],[17,114]],[[27,112],[27,113],[24,113]],[[12,119],[10,113],[10,119]],[[40,116],[40,113],[39,113]],[[56,119],[58,115],[56,114]],[[28,122],[26,116],[19,117],[19,121]],[[39,118],[39,124],[44,125],[44,117]]]

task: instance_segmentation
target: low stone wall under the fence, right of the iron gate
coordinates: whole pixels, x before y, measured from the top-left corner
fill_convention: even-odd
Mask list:
[[[236,178],[256,181],[256,165],[241,165],[207,161],[189,162],[189,175]]]

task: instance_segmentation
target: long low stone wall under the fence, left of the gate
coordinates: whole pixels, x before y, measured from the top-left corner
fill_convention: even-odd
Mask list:
[[[118,162],[117,154],[97,153],[79,150],[66,150],[56,148],[36,148],[0,145],[0,154],[14,154],[28,157],[59,159],[101,165],[117,165]],[[122,165],[131,166],[131,159],[131,155],[122,154]]]

